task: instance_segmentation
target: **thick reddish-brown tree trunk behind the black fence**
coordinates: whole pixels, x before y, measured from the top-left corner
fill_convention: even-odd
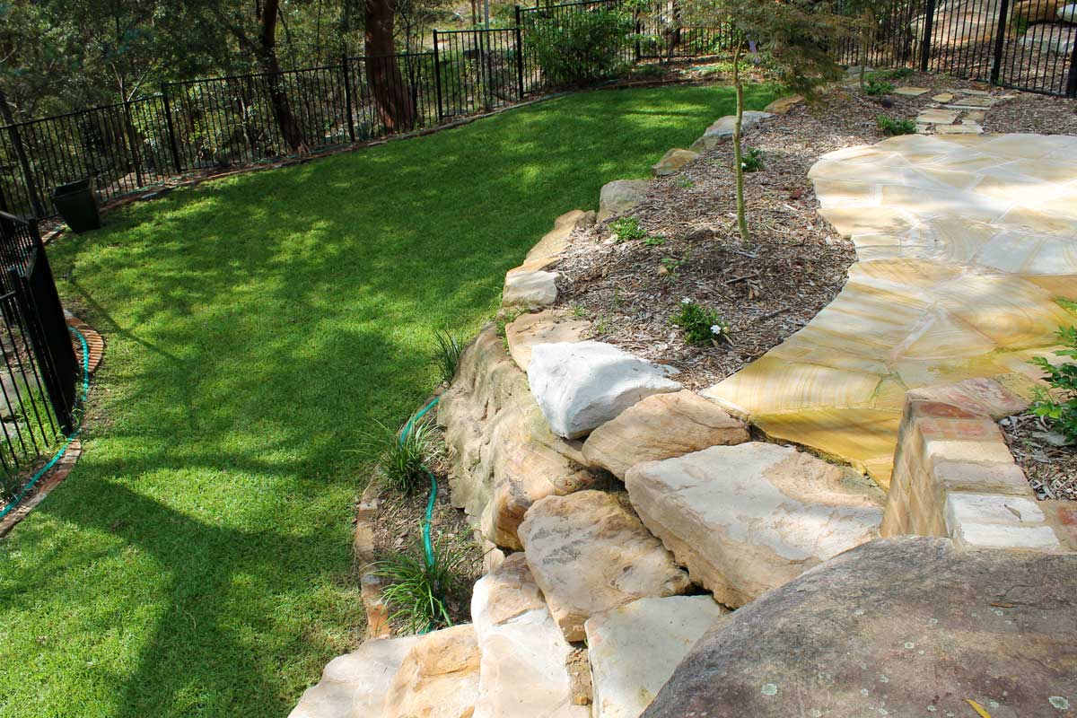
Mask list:
[[[411,94],[404,85],[393,43],[395,0],[365,0],[366,81],[378,103],[378,114],[389,132],[415,127]]]

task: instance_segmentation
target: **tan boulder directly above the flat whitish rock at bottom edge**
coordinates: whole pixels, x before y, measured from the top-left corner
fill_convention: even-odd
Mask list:
[[[612,494],[547,496],[520,524],[528,566],[568,640],[584,622],[637,599],[684,593],[688,576]]]

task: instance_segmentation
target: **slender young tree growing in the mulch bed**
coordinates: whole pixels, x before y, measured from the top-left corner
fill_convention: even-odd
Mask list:
[[[700,16],[728,26],[737,36],[733,44],[733,89],[737,115],[733,124],[733,171],[737,192],[737,226],[741,241],[751,241],[744,205],[744,72],[745,56],[765,55],[778,82],[811,99],[823,85],[841,76],[834,50],[848,34],[851,20],[829,0],[694,0]]]

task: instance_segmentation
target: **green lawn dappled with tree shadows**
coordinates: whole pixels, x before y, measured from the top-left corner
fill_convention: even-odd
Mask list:
[[[730,97],[565,97],[177,192],[52,248],[108,348],[79,465],[0,540],[0,715],[284,716],[361,635],[347,450],[429,394],[433,330],[490,319],[558,214]]]

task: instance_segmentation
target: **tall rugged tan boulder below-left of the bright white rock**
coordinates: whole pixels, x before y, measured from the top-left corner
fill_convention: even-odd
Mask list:
[[[494,325],[461,355],[437,421],[445,427],[452,505],[498,546],[520,548],[516,529],[535,501],[593,483],[578,442],[550,432]]]

